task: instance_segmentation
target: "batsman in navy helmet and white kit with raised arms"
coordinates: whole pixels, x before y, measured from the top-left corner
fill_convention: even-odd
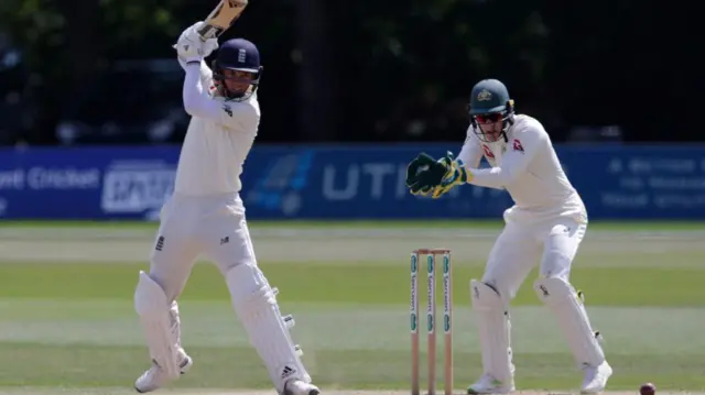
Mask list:
[[[175,45],[186,72],[184,108],[192,119],[174,195],[160,216],[150,271],[140,272],[134,292],[152,359],[134,387],[140,393],[158,389],[192,367],[194,361],[181,345],[176,298],[194,262],[204,254],[224,275],[232,307],[276,391],[318,395],[279,310],[276,292],[257,264],[239,196],[242,164],[260,121],[259,52],[249,41],[227,41],[210,70],[203,58],[218,43],[202,42],[196,33],[200,23],[186,29]]]

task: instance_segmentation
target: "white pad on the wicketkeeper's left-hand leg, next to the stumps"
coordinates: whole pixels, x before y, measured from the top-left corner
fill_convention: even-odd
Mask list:
[[[482,351],[485,373],[500,382],[512,378],[511,322],[501,296],[489,285],[470,279],[470,299],[475,311]]]

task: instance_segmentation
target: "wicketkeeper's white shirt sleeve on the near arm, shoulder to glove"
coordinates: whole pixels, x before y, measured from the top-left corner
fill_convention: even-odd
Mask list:
[[[491,168],[469,168],[473,179],[469,184],[503,189],[527,171],[529,163],[547,142],[547,134],[540,123],[529,123],[514,131],[507,143],[507,152],[501,165]]]

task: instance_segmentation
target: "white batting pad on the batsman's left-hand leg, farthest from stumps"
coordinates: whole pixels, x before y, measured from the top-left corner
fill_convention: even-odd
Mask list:
[[[173,307],[166,300],[162,287],[147,273],[140,271],[140,279],[134,289],[134,310],[140,316],[150,356],[170,378],[177,378],[181,372],[177,361],[178,340],[172,332],[170,310]],[[177,326],[175,321],[174,327]]]

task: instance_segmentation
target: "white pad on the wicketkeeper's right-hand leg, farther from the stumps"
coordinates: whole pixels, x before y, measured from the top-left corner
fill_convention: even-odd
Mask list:
[[[575,288],[562,278],[539,278],[533,289],[539,299],[555,314],[578,367],[585,363],[590,366],[603,363],[605,354]]]

